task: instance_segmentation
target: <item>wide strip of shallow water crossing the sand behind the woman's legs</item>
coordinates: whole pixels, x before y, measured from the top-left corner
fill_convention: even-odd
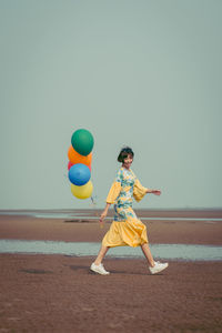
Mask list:
[[[97,255],[101,243],[87,242],[53,242],[53,241],[21,241],[0,240],[0,253],[30,253],[30,254],[64,254],[74,256]],[[194,244],[150,244],[155,259],[184,261],[220,261],[222,246]],[[138,248],[119,246],[110,249],[108,256],[142,258]]]

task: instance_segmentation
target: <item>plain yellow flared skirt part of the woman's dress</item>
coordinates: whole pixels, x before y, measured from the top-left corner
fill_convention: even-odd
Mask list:
[[[105,233],[102,245],[139,246],[148,243],[147,226],[138,219],[128,218],[125,221],[113,221],[110,230]]]

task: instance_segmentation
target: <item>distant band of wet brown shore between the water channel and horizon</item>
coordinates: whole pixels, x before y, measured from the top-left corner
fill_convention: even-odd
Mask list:
[[[40,212],[42,211],[38,211]],[[75,218],[79,213],[83,215]],[[0,239],[101,242],[110,228],[113,212],[109,212],[109,219],[105,220],[103,228],[99,224],[100,213],[99,210],[77,210],[68,219],[36,218],[26,213],[0,214]],[[222,244],[222,221],[219,220],[222,219],[222,210],[195,211],[195,213],[181,211],[180,216],[178,211],[167,214],[165,211],[135,210],[135,213],[139,219],[144,218],[142,222],[147,225],[151,244]],[[148,215],[149,220],[145,220]],[[90,216],[94,220],[90,220]],[[163,220],[157,220],[158,218]]]

